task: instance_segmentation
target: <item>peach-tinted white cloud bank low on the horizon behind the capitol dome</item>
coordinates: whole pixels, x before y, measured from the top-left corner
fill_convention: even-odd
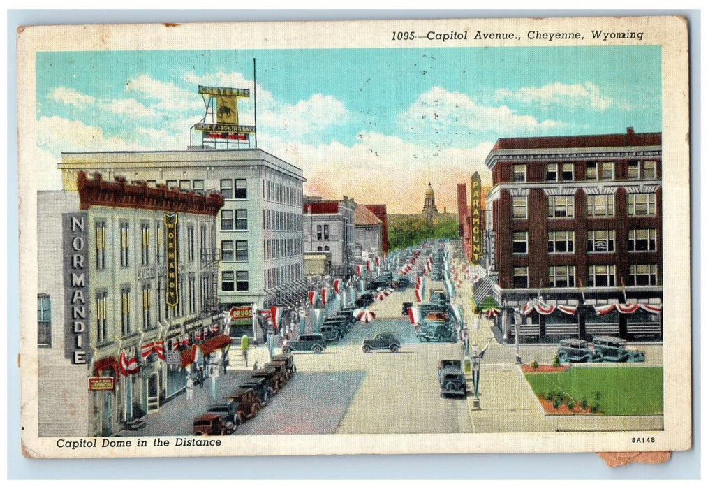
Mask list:
[[[264,150],[303,169],[305,193],[324,198],[347,195],[359,203],[387,203],[389,213],[419,213],[428,182],[435,189],[442,212],[457,210],[457,184],[478,171],[483,183],[491,183],[484,159],[493,142],[470,148],[434,147],[404,142],[399,137],[362,133],[348,147],[341,142],[305,145],[270,139]]]

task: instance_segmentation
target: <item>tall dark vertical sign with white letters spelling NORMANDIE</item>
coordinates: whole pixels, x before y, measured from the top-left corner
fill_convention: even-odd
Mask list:
[[[62,214],[64,256],[64,357],[72,364],[91,361],[89,347],[89,218]]]

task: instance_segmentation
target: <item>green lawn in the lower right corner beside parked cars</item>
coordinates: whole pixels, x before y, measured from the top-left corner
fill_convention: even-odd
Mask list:
[[[605,415],[657,415],[663,413],[663,367],[573,366],[559,373],[527,373],[534,393],[563,391],[578,403],[595,402],[600,392],[600,412]]]

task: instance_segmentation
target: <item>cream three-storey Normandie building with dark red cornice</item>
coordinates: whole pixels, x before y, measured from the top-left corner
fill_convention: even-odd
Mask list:
[[[219,194],[83,172],[74,187],[38,193],[40,436],[108,436],[157,410],[186,382],[166,352],[222,320]]]

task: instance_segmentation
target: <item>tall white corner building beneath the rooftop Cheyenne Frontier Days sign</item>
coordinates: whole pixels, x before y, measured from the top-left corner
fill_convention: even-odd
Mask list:
[[[64,189],[77,172],[224,197],[217,216],[219,303],[272,305],[282,288],[302,289],[302,169],[263,150],[196,147],[166,152],[63,153]]]

